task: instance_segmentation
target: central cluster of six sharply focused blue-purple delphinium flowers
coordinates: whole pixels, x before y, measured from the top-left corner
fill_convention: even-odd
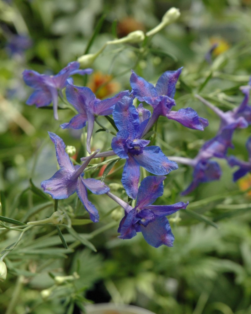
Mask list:
[[[69,122],[61,124],[61,128],[82,129],[87,124],[86,149],[90,155],[81,159],[82,165],[73,165],[63,140],[55,133],[49,132],[55,144],[60,169],[50,179],[41,183],[44,192],[49,193],[54,199],[65,199],[76,192],[93,222],[99,221],[99,214],[97,208],[88,200],[87,189],[94,194],[106,194],[125,210],[125,216],[118,229],[120,238],[130,239],[137,232],[142,232],[145,240],[154,247],[162,244],[172,246],[174,236],[165,216],[185,209],[188,203],[152,205],[163,195],[165,175],[177,169],[178,165],[175,161],[169,160],[160,147],[149,145],[150,140],[147,138],[148,131],[159,116],[165,116],[185,127],[197,130],[203,130],[208,125],[207,120],[198,116],[192,108],[172,110],[175,106],[175,85],[181,70],[180,68],[177,71],[163,73],[155,87],[132,71],[131,91],[124,90],[104,100],[98,99],[90,88],[73,84],[72,78],[69,78],[73,74],[92,72],[91,69],[79,70],[78,62],[69,63],[55,76],[25,70],[23,73],[25,83],[35,89],[27,100],[28,105],[47,106],[52,101],[54,117],[58,119],[57,97],[58,94],[62,96],[61,91],[65,88],[67,101],[75,108],[77,115]],[[152,113],[144,108],[142,103],[134,106],[135,99],[152,106]],[[97,150],[91,154],[90,143],[94,123],[98,122],[98,116],[109,115],[112,115],[114,127],[117,129],[115,137],[111,140],[112,150],[106,152]],[[109,117],[110,121],[112,118]],[[218,139],[219,145],[221,140]],[[214,149],[209,147],[208,154],[211,150]],[[112,155],[125,159],[121,182],[129,198],[136,200],[135,207],[112,194],[103,181],[84,178],[83,171],[93,158]],[[141,167],[154,176],[145,176],[140,183]]]

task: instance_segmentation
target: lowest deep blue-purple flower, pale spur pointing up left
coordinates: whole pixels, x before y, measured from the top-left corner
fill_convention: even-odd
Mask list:
[[[163,195],[163,180],[165,176],[147,176],[141,182],[138,190],[136,206],[125,203],[123,200],[107,192],[125,210],[125,216],[120,222],[119,238],[131,239],[137,232],[142,232],[148,244],[159,247],[173,246],[174,235],[168,219],[165,217],[185,209],[188,203],[179,202],[172,205],[152,205]]]

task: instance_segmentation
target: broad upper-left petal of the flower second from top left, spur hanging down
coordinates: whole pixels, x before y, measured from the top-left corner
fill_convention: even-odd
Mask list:
[[[88,111],[93,113],[96,97],[91,89],[67,84],[65,94],[69,103],[72,104],[79,113],[84,115],[87,115]]]

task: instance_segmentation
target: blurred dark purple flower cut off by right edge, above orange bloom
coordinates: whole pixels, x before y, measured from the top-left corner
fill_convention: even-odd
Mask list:
[[[246,143],[246,148],[248,150],[248,161],[238,160],[234,156],[229,156],[227,158],[228,164],[231,167],[239,166],[239,169],[233,174],[233,181],[239,180],[241,177],[245,176],[251,171],[251,137],[248,138]]]

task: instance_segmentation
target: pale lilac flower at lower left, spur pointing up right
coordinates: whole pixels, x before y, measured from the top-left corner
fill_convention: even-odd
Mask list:
[[[69,155],[65,151],[63,140],[55,133],[48,133],[55,144],[56,157],[60,169],[50,179],[42,181],[41,187],[44,189],[44,192],[50,194],[55,199],[68,198],[74,192],[77,192],[85,209],[90,214],[90,219],[94,222],[99,221],[98,210],[88,201],[86,188],[94,194],[104,194],[109,191],[109,187],[99,180],[83,178],[83,170],[97,152],[89,156],[81,166],[73,166]]]

